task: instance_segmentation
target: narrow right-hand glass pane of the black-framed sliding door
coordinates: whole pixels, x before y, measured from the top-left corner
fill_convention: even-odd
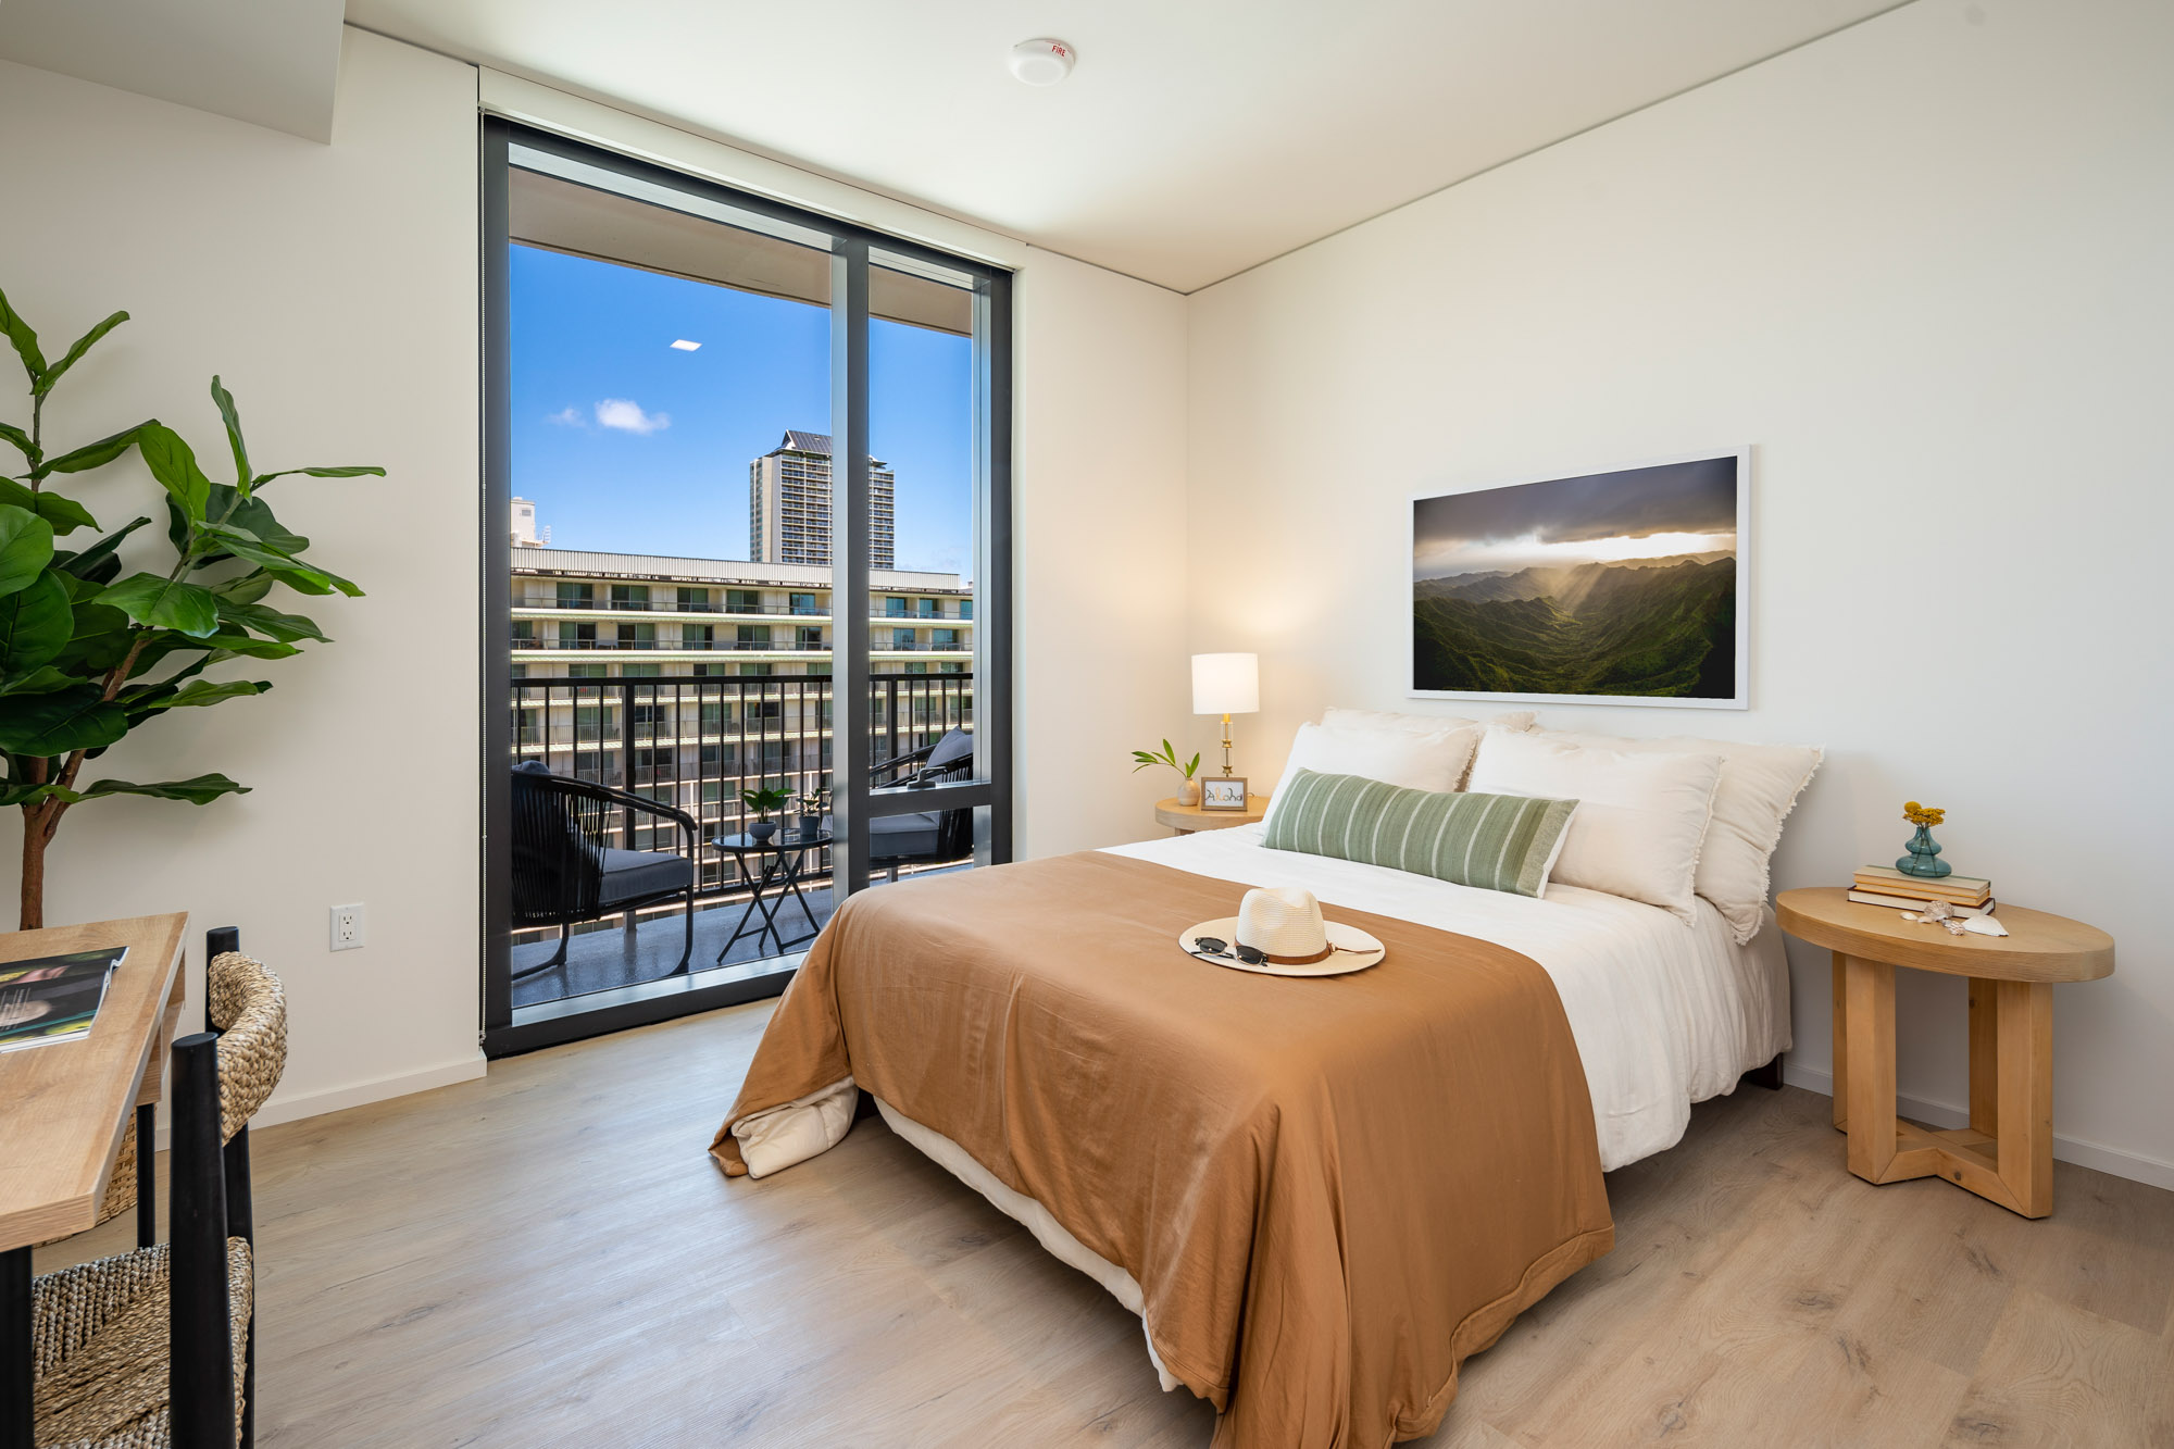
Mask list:
[[[985,779],[974,755],[974,278],[870,255],[870,761],[876,790]],[[870,820],[870,879],[972,866],[970,807]]]

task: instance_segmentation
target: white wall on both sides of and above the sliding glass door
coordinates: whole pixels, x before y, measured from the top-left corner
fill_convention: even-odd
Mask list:
[[[637,128],[637,150],[735,178],[728,148],[583,104],[591,126]],[[333,144],[315,146],[0,63],[0,287],[48,352],[115,307],[135,313],[65,379],[57,437],[157,413],[220,476],[204,389],[222,372],[259,466],[391,474],[270,494],[367,590],[289,600],[337,642],[215,670],[274,690],[176,711],[104,761],[124,779],[224,770],[252,792],[70,814],[46,918],[239,925],[291,1003],[267,1120],[478,1073],[476,72],[348,30]],[[789,178],[763,165],[748,181],[778,191]],[[837,183],[807,181],[852,209]],[[974,242],[863,200],[900,231]],[[970,250],[1020,265],[1017,812],[1022,853],[1044,855],[1152,829],[1157,781],[1124,766],[1183,707],[1185,300],[989,242]],[[0,357],[0,379],[11,368]],[[24,407],[0,403],[0,418]],[[102,520],[157,511],[135,459],[85,498]],[[4,820],[13,859],[20,816]],[[333,955],[326,912],[346,901],[370,907],[370,944]]]

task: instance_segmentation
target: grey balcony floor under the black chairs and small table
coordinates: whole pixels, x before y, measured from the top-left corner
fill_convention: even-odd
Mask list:
[[[941,866],[941,870],[965,870],[965,866]],[[917,875],[933,872],[922,870]],[[828,879],[804,881],[800,886],[800,894],[807,896],[809,909],[815,914],[817,929],[830,920],[835,905],[830,901]],[[694,955],[687,959],[689,970],[715,970],[720,966],[717,951],[724,949],[724,942],[733,936],[733,929],[739,925],[741,912],[746,909],[746,894],[713,896],[709,901],[698,899],[694,903]],[[748,920],[748,936],[733,942],[733,949],[724,955],[724,966],[754,966],[757,962],[776,957],[776,946],[767,936],[761,940],[754,938],[759,920],[761,916]],[[789,896],[778,912],[778,929],[785,933],[785,940],[794,940],[794,936],[809,929],[807,916],[800,914],[800,905]],[[630,944],[617,916],[604,922],[591,922],[587,931],[574,927],[574,940],[570,940],[565,949],[565,964],[539,970],[533,977],[515,979],[513,1005],[533,1007],[550,1001],[565,1001],[570,996],[609,992],[622,986],[639,986],[641,981],[661,981],[678,966],[685,944],[687,925],[683,907],[678,905],[659,912],[644,912],[641,925],[637,927]],[[557,951],[557,931],[533,940],[526,940],[524,933],[513,942],[513,970],[520,973],[526,966],[548,962]],[[802,951],[807,951],[807,942],[791,946],[787,951],[787,959],[798,957]]]

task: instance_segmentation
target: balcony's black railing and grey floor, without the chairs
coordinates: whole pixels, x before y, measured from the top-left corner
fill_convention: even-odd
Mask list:
[[[826,674],[785,679],[513,679],[513,757],[539,759],[554,775],[598,781],[685,809],[700,822],[696,846],[696,942],[691,970],[715,970],[717,953],[748,909],[750,881],[737,857],[711,840],[746,829],[741,790],[772,785],[796,796],[830,788],[833,681]],[[870,759],[885,761],[935,744],[950,729],[972,729],[972,674],[883,674],[870,681]],[[617,812],[604,846],[678,851],[678,827]],[[802,896],[815,922],[830,918],[828,846],[811,851]],[[754,864],[754,862],[750,862]],[[970,864],[933,862],[902,875]],[[759,870],[759,866],[757,866]],[[798,903],[783,907],[787,938],[807,931]],[[567,962],[517,979],[517,1007],[635,986],[672,975],[685,942],[680,907],[659,905],[574,927]],[[517,931],[513,970],[550,959],[557,931]],[[774,946],[739,940],[724,968],[757,966]]]

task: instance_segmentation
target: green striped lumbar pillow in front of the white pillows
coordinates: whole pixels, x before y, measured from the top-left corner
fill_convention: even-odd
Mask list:
[[[1576,807],[1576,801],[1441,794],[1300,770],[1276,792],[1263,844],[1537,896]]]

